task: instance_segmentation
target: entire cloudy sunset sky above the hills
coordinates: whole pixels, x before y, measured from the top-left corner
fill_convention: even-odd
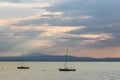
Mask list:
[[[0,0],[0,56],[120,57],[120,0]]]

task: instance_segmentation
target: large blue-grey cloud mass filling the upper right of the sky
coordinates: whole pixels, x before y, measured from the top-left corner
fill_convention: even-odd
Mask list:
[[[67,32],[68,34],[111,34],[114,38],[108,40],[100,40],[95,44],[90,44],[90,47],[115,47],[120,46],[120,10],[119,0],[70,0],[62,4],[57,4],[48,10],[63,11],[66,16],[79,17],[82,15],[93,16],[92,19],[78,21],[77,19],[70,21],[70,24],[86,26],[84,29]],[[69,23],[68,23],[69,24]],[[83,38],[67,38],[68,40],[83,41]],[[89,40],[89,39],[85,39]],[[87,45],[88,46],[88,45]]]

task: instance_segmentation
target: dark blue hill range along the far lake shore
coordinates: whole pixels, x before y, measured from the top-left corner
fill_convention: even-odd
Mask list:
[[[41,53],[30,53],[24,56],[17,57],[0,57],[0,61],[21,61],[23,58],[24,61],[65,61],[65,55],[47,55]],[[68,61],[106,61],[106,62],[115,62],[120,61],[120,58],[91,58],[91,57],[75,57],[68,56]]]

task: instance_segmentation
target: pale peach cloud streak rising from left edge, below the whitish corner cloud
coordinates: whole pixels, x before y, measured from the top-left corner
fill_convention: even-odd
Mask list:
[[[40,10],[40,12],[32,15],[32,16],[27,16],[27,17],[18,17],[18,18],[7,18],[7,19],[0,19],[0,25],[5,26],[5,25],[12,25],[13,26],[16,24],[17,26],[27,26],[27,25],[35,25],[34,21],[39,20],[39,19],[49,19],[49,17],[44,16],[44,15],[52,15],[52,16],[60,16],[64,14],[63,12],[50,12],[46,10]],[[31,23],[33,22],[33,23]],[[30,24],[31,23],[31,24]],[[39,25],[39,24],[38,24]]]

